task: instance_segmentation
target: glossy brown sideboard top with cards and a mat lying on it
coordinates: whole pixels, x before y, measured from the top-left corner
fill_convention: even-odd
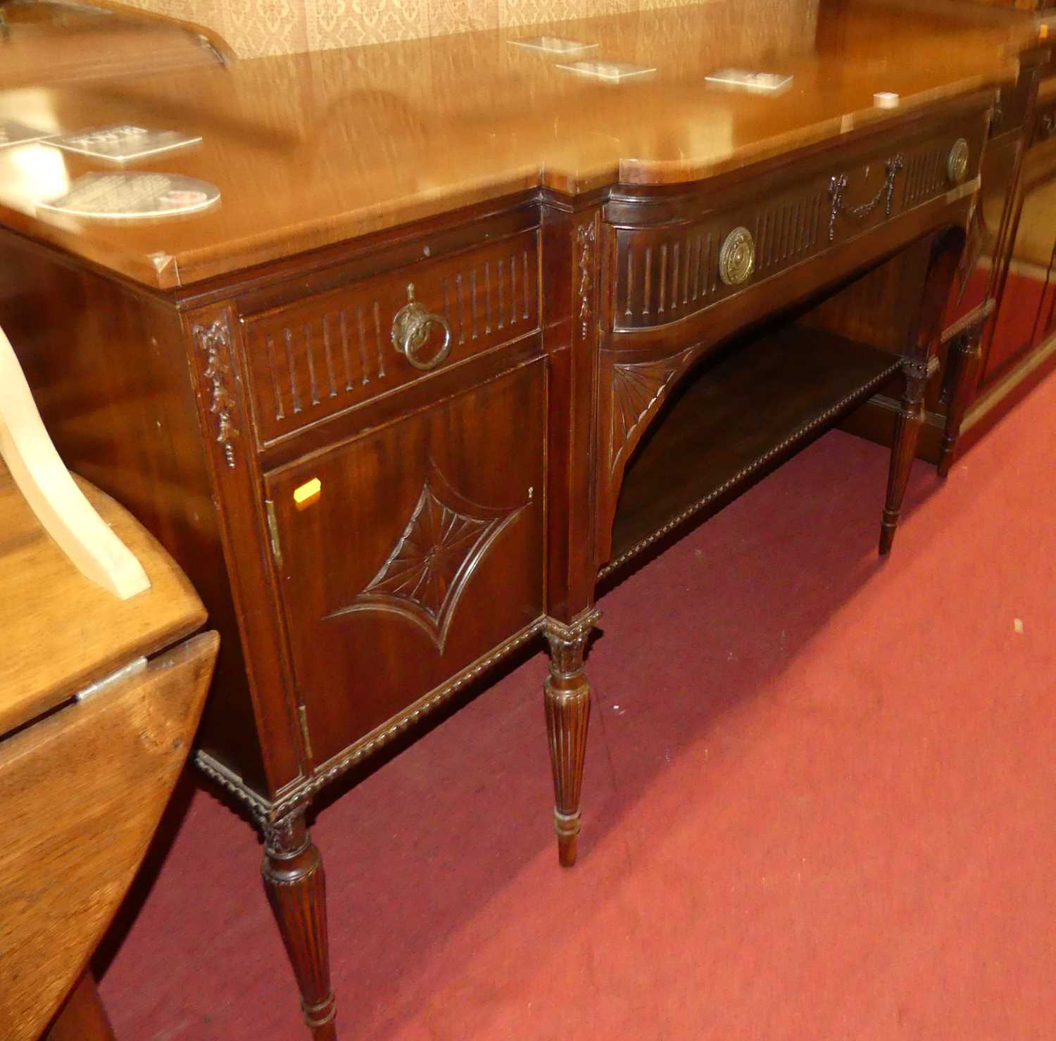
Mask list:
[[[655,65],[621,83],[512,45],[551,33],[600,45],[576,58]],[[122,225],[44,219],[90,170],[45,145],[0,149],[0,221],[147,285],[173,288],[547,187],[701,181],[945,97],[1006,82],[1021,19],[898,0],[717,0],[544,26],[259,58],[227,69],[0,93],[0,119],[68,132],[133,122],[201,134],[130,169],[214,184],[220,204]],[[777,96],[727,93],[729,67],[793,76]],[[894,110],[873,105],[900,95]]]

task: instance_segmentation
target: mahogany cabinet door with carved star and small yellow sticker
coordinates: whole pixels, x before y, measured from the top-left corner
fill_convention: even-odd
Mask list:
[[[315,762],[542,614],[544,364],[267,475]]]

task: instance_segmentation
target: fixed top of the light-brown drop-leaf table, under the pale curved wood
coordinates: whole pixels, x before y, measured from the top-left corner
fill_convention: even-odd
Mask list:
[[[86,579],[40,527],[0,465],[0,630],[6,640],[0,733],[55,707],[131,658],[170,646],[205,621],[201,600],[154,538],[109,496],[87,481],[79,485],[144,562],[151,588],[122,601]]]

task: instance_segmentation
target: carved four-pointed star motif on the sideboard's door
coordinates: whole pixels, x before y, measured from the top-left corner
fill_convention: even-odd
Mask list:
[[[502,509],[474,503],[431,463],[411,518],[377,574],[348,604],[325,617],[366,610],[401,614],[442,654],[466,584],[525,506]]]

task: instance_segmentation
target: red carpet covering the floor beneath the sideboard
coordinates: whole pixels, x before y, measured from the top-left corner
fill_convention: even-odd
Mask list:
[[[1054,459],[1050,378],[882,564],[831,433],[605,597],[571,871],[541,654],[323,809],[340,1036],[1056,1037]],[[177,810],[118,1037],[305,1038],[252,832]]]

